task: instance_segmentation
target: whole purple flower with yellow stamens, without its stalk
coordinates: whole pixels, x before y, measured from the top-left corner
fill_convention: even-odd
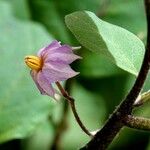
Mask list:
[[[72,47],[55,40],[39,50],[37,56],[26,56],[25,63],[31,68],[32,79],[41,94],[55,98],[57,90],[52,84],[79,74],[71,69],[70,64],[80,58],[73,53]]]

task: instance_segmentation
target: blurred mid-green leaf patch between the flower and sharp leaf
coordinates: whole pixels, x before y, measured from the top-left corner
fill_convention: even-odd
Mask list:
[[[110,63],[108,59],[96,53],[82,49],[81,56],[83,59],[78,64],[77,68],[81,76],[87,78],[103,78],[125,73],[123,70]]]

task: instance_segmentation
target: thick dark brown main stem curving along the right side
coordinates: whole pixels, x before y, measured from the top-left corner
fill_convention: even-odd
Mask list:
[[[119,133],[120,129],[124,126],[124,118],[126,118],[132,112],[133,103],[137,99],[143,87],[150,66],[150,0],[145,0],[145,9],[148,24],[147,46],[144,60],[135,84],[126,98],[107,120],[104,127],[97,132],[97,134],[89,143],[81,148],[82,150],[105,150],[113,141],[117,133]]]

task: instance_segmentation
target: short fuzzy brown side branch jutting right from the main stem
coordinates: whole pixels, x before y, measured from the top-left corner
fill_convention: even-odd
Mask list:
[[[150,131],[150,119],[143,117],[134,117],[129,115],[125,119],[125,125],[130,128]]]

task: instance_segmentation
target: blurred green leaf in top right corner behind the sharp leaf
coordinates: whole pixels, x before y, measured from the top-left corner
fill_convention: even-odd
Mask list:
[[[141,0],[110,1],[105,9],[104,20],[135,33],[140,39],[146,37],[144,2]],[[132,13],[131,13],[132,10]]]

